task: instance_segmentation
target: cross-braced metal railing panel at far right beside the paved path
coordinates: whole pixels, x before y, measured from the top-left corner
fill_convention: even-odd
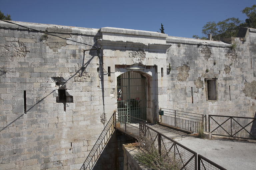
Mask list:
[[[256,140],[256,118],[209,115],[208,121],[214,135]]]

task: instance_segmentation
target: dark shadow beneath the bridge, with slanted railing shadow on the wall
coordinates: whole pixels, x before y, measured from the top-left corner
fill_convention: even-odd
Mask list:
[[[102,130],[98,140],[80,170],[122,170],[124,168],[123,144],[136,140],[115,130],[113,115]]]

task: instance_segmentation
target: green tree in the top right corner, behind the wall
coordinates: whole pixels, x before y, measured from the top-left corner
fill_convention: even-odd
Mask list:
[[[245,20],[245,23],[241,26],[256,28],[256,5],[245,7],[241,12],[248,17],[248,19]]]

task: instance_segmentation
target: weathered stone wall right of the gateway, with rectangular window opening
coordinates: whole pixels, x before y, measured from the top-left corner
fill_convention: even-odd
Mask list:
[[[169,37],[166,108],[199,114],[255,116],[255,29],[231,44]],[[235,44],[235,45],[234,45]],[[168,71],[168,70],[167,70]],[[208,100],[208,80],[217,100]],[[208,83],[207,83],[208,82]]]

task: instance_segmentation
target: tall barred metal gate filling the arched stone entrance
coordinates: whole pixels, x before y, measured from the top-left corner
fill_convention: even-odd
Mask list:
[[[147,120],[146,77],[126,72],[117,77],[117,108],[120,121],[126,123]]]

